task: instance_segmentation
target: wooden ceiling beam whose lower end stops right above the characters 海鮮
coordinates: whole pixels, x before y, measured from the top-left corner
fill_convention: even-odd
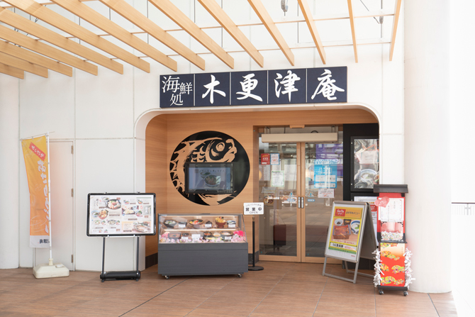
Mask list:
[[[113,23],[111,20],[103,16],[101,13],[94,11],[86,4],[83,4],[79,0],[52,0],[58,6],[70,11],[71,13],[79,16],[79,18],[83,18],[84,20],[91,23],[93,26],[104,30],[108,34],[112,35],[113,37],[121,40],[123,43],[130,45],[135,50],[139,52],[143,52],[143,54],[147,55],[148,57],[152,58],[152,60],[156,60],[160,62],[160,64],[168,67],[169,69],[177,71],[177,62],[172,60],[172,58],[164,55],[164,53],[157,50],[152,45],[147,44],[145,41],[140,40],[137,36],[128,32],[121,26],[118,26],[116,23]],[[195,56],[197,56],[195,54]]]

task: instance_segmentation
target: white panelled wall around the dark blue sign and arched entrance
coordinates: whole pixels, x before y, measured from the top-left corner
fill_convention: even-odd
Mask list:
[[[145,0],[144,0],[145,1]],[[143,13],[147,11],[144,1],[135,0],[133,4]],[[130,0],[131,2],[131,0]],[[209,23],[209,14],[194,0],[174,1],[182,11],[194,18],[195,11],[199,23]],[[345,13],[347,1],[318,0],[311,2],[315,12],[328,10],[333,13]],[[374,1],[373,1],[374,2]],[[378,4],[371,3],[371,10],[379,9]],[[99,2],[86,2],[90,6],[100,8]],[[235,21],[255,19],[255,13],[245,0],[224,1],[225,10]],[[280,19],[283,13],[276,1],[267,0],[264,4],[269,8],[273,18]],[[366,9],[354,4],[355,11],[364,13]],[[393,1],[385,1],[386,9],[393,9]],[[51,6],[54,8],[54,6]],[[97,9],[96,8],[96,9]],[[153,21],[167,28],[173,23],[149,4],[149,15]],[[101,13],[108,16],[108,10]],[[297,16],[299,9],[293,6],[287,17]],[[315,16],[318,14],[315,13]],[[111,17],[125,28],[131,28],[116,14]],[[74,18],[74,17],[71,17]],[[363,107],[375,113],[380,120],[381,133],[381,182],[403,183],[403,16],[399,23],[396,50],[393,61],[389,62],[389,45],[360,45],[358,48],[359,62],[354,62],[352,46],[326,48],[327,66],[348,67],[348,103],[306,105],[320,108]],[[81,21],[82,26],[95,30],[93,26]],[[318,22],[321,37],[330,40],[351,38],[349,23]],[[384,33],[389,38],[392,20],[384,21]],[[379,36],[381,29],[374,19],[361,19],[357,23],[358,34],[363,38]],[[279,26],[289,45],[311,41],[305,23],[299,26]],[[252,38],[257,48],[275,46],[269,38],[267,30],[262,26],[242,28]],[[220,29],[206,30],[218,43],[225,48],[238,48],[238,45],[227,33],[221,35]],[[186,33],[173,32],[172,35],[183,40],[194,50],[201,45]],[[143,35],[140,35],[143,36]],[[145,37],[146,39],[146,37]],[[152,45],[163,52],[169,52],[161,43],[149,39]],[[126,45],[125,45],[126,46]],[[296,60],[295,68],[323,67],[316,49],[293,50]],[[140,55],[140,53],[138,53]],[[261,69],[245,52],[231,53],[235,58],[235,71]],[[279,50],[263,51],[264,69],[293,68]],[[206,60],[206,72],[229,72],[232,69],[220,62],[214,55],[201,55]],[[182,57],[173,57],[178,62],[179,73],[203,72]],[[150,62],[151,72],[147,74],[124,63],[124,74],[117,74],[99,66],[99,76],[95,77],[81,70],[74,70],[72,78],[50,72],[49,79],[26,76],[20,84],[20,106],[15,109],[20,113],[20,138],[46,131],[55,131],[52,140],[72,140],[74,143],[74,223],[75,223],[75,256],[76,269],[101,269],[102,239],[86,236],[86,196],[91,192],[127,192],[145,190],[145,133],[146,123],[154,114],[164,113],[159,109],[159,76],[172,74],[172,71]],[[0,75],[2,83],[9,81]],[[14,90],[12,90],[14,91]],[[3,98],[0,96],[0,98]],[[2,99],[0,99],[2,100]],[[245,107],[240,107],[240,111]],[[265,110],[272,110],[272,106]],[[291,109],[291,107],[290,107]],[[262,109],[261,109],[262,110]],[[209,111],[199,109],[198,111]],[[233,111],[231,108],[219,111]],[[144,113],[147,113],[145,116]],[[140,119],[142,118],[142,119]],[[140,119],[140,120],[139,120]],[[137,130],[135,130],[137,129]],[[18,127],[16,127],[18,130]],[[21,165],[24,169],[24,165]],[[28,235],[28,186],[25,177],[19,177],[20,223],[21,235]],[[18,181],[17,181],[18,182]],[[160,193],[157,193],[157,195]],[[54,230],[53,230],[54,232]],[[22,238],[20,243],[20,265],[31,267],[32,250]],[[142,244],[143,245],[143,244]],[[106,242],[106,270],[135,268],[135,240],[132,238],[108,239]],[[141,248],[143,254],[143,249]],[[3,258],[3,256],[0,254]]]

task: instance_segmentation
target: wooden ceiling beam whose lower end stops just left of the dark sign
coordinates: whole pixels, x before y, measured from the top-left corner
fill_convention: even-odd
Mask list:
[[[138,67],[144,72],[150,72],[150,64],[145,62],[145,60],[141,60],[139,57],[133,55],[131,52],[128,52],[123,48],[119,48],[117,45],[109,42],[108,40],[105,40],[104,38],[101,38],[99,35],[94,34],[90,30],[79,26],[77,23],[74,23],[68,18],[61,16],[59,13],[56,13],[51,9],[47,9],[45,6],[38,4],[38,2],[35,2],[34,0],[4,1],[22,11],[25,11],[28,14],[31,14],[32,16],[35,16],[36,18],[39,18],[42,21],[45,21],[46,23],[52,26],[55,26],[55,28],[59,28],[60,30],[63,30],[68,34],[76,36],[80,40],[84,40],[84,42],[89,43],[90,45],[95,46],[96,48],[99,48],[99,50],[108,52],[109,54],[117,57],[119,60],[123,60],[124,62],[127,62],[130,65]],[[111,60],[110,58],[107,58],[104,55],[101,56],[106,58],[107,60]],[[123,67],[122,72],[120,73],[123,74]]]

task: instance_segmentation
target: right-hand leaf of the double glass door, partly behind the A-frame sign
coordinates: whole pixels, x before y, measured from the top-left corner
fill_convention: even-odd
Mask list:
[[[302,149],[303,150],[303,149]],[[302,262],[325,257],[333,201],[343,200],[342,143],[306,143]]]

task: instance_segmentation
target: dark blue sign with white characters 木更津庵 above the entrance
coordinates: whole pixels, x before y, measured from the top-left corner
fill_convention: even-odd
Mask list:
[[[347,67],[160,76],[160,108],[347,102]]]

